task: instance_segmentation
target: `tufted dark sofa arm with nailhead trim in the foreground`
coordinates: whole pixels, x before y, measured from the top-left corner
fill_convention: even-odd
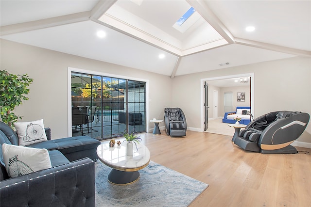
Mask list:
[[[0,206],[95,206],[94,161],[80,159],[2,180]]]

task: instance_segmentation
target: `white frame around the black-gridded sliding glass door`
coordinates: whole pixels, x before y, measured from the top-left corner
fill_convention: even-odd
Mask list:
[[[118,79],[129,79],[129,80],[135,80],[135,81],[142,81],[142,82],[146,82],[146,132],[148,132],[149,129],[149,80],[145,80],[145,79],[138,79],[138,78],[133,78],[133,77],[128,77],[128,76],[121,76],[121,75],[117,75],[117,74],[110,74],[110,73],[103,73],[100,71],[91,71],[91,70],[85,70],[85,69],[79,69],[79,68],[73,68],[73,67],[68,67],[67,68],[67,90],[68,90],[68,102],[67,102],[67,106],[68,106],[68,137],[72,136],[72,123],[71,123],[71,72],[77,72],[77,73],[86,73],[86,74],[90,74],[90,75],[100,75],[100,76],[106,76],[106,77],[113,77],[113,78],[118,78]]]

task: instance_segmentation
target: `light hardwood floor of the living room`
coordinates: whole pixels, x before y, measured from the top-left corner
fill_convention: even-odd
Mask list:
[[[311,206],[311,153],[263,155],[243,151],[230,136],[161,133],[139,134],[151,160],[209,185],[190,207]]]

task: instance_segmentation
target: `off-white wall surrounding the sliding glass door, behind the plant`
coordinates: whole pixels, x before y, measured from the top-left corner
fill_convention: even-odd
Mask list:
[[[2,39],[0,49],[1,70],[27,73],[34,79],[29,101],[24,101],[15,113],[23,116],[21,121],[43,118],[45,127],[52,129],[52,139],[68,136],[68,67],[149,80],[148,118],[163,119],[164,106],[171,105],[172,81],[168,76]],[[150,124],[149,120],[147,124]],[[160,123],[160,126],[164,124]],[[153,127],[151,123],[147,130]]]

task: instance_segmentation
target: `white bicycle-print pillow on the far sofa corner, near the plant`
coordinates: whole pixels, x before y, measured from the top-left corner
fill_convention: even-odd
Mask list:
[[[48,141],[43,119],[32,122],[16,122],[14,127],[17,131],[18,145],[20,146]]]

